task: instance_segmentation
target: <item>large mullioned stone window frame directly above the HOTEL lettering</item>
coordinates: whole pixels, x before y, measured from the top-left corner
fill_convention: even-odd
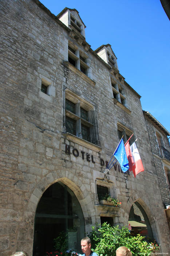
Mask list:
[[[82,97],[80,97],[79,95],[75,94],[73,91],[67,88],[65,90],[65,99],[68,99],[69,101],[76,104],[75,114],[71,113],[69,110],[66,110],[66,107],[64,108],[64,116],[65,116],[64,127],[66,127],[66,116],[76,121],[76,135],[68,133],[65,130],[66,134],[69,135],[68,137],[70,138],[71,136],[72,141],[77,141],[77,139],[75,138],[78,138],[79,140],[81,140],[81,142],[79,141],[79,144],[88,143],[89,147],[91,144],[92,148],[97,147],[98,148],[97,150],[100,151],[101,148],[100,148],[100,142],[99,142],[98,125],[96,125],[97,120],[96,120],[95,105],[92,105],[90,102],[86,101],[85,99],[83,99]],[[88,121],[81,117],[80,108],[83,108],[88,112]],[[91,120],[93,120],[93,122]],[[81,124],[89,128],[90,141],[84,140],[82,138]]]

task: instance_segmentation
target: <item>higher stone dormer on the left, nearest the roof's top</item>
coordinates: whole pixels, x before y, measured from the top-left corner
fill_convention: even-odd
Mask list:
[[[85,38],[85,28],[82,19],[79,16],[79,12],[76,9],[64,8],[57,18],[61,20],[69,29],[75,31],[75,33],[81,34]]]

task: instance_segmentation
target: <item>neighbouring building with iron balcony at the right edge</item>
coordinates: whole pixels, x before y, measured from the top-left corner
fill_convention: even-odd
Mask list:
[[[158,176],[162,202],[170,227],[170,133],[149,112],[143,111],[149,133],[155,170]]]

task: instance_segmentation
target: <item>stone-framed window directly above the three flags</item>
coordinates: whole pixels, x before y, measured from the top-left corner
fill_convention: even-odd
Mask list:
[[[118,132],[118,139],[120,140],[123,136],[123,142],[126,143],[127,140],[129,139],[129,137],[134,133],[131,129],[127,128],[125,125],[121,124],[121,123],[117,123],[117,132]],[[120,132],[121,134],[121,138],[120,138]],[[132,138],[130,139],[130,144],[133,144],[133,142],[135,141],[135,135],[132,136]]]

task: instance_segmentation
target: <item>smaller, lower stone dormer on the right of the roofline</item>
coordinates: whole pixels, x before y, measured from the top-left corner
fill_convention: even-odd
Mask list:
[[[108,65],[118,69],[117,58],[111,48],[110,44],[101,45],[95,52],[103,59]]]

